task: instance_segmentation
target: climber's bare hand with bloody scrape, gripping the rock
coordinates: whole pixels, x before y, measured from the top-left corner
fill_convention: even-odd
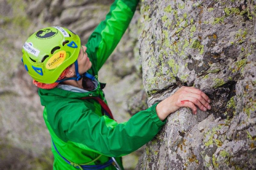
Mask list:
[[[196,106],[202,111],[210,110],[210,102],[211,100],[204,92],[194,87],[182,86],[156,106],[156,113],[161,120],[164,120],[169,114],[175,112],[180,107],[189,107],[196,115]]]

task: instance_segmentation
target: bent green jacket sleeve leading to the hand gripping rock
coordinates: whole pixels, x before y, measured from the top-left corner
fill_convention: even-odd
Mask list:
[[[155,137],[166,122],[158,118],[157,104],[138,112],[124,123],[99,116],[81,104],[80,107],[72,105],[72,113],[61,113],[62,120],[69,120],[61,123],[67,139],[80,148],[111,157],[124,156],[139,149]]]

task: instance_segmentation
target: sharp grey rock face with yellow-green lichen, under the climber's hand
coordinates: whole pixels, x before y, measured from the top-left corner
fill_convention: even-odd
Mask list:
[[[256,1],[144,0],[139,49],[149,105],[194,86],[212,109],[172,113],[137,169],[256,167]]]

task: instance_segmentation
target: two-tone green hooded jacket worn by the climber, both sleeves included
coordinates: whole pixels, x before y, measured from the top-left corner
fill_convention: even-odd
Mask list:
[[[127,29],[137,6],[137,0],[116,0],[106,19],[89,37],[87,54],[92,62],[88,73],[98,75],[103,63],[112,53]],[[44,121],[60,154],[77,164],[103,164],[109,157],[116,157],[120,166],[121,156],[129,154],[150,141],[164,125],[156,114],[156,104],[140,111],[127,122],[102,116],[100,104],[93,99],[100,97],[107,103],[100,84],[89,92],[71,92],[58,87],[38,90],[44,106]],[[66,163],[55,151],[53,169],[76,169]],[[123,167],[122,167],[123,168]],[[115,169],[113,165],[105,169]]]

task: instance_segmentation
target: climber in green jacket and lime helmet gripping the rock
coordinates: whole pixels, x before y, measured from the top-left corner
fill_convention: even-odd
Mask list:
[[[170,97],[117,123],[98,71],[132,19],[137,0],[116,0],[85,46],[76,33],[52,26],[33,33],[22,48],[25,69],[39,87],[52,137],[53,169],[123,169],[121,156],[150,141],[180,107],[211,109],[210,99],[182,86]],[[193,115],[191,115],[193,116]]]

